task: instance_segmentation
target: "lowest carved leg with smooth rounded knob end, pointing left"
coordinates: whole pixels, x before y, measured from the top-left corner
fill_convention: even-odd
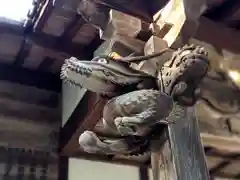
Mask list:
[[[85,131],[79,136],[79,145],[88,153],[124,154],[129,148],[123,139],[101,140],[94,132]]]

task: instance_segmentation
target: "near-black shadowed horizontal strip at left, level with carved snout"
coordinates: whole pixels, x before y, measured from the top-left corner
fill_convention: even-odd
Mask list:
[[[0,80],[8,80],[56,92],[61,90],[59,74],[37,72],[4,64],[0,64]]]

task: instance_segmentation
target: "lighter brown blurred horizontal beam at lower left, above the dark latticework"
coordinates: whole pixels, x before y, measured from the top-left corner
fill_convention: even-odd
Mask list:
[[[58,147],[57,126],[43,123],[36,119],[23,119],[10,116],[0,116],[0,145],[19,148],[29,148],[43,151],[55,151]],[[44,133],[43,133],[44,132]]]

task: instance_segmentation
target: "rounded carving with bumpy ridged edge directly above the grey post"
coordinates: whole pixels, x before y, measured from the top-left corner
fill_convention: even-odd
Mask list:
[[[185,45],[175,51],[159,71],[159,89],[186,105],[193,105],[199,95],[196,91],[198,85],[207,74],[208,68],[209,60],[204,47]]]

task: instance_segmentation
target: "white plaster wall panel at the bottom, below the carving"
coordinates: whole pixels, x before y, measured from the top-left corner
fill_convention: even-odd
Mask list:
[[[139,180],[139,169],[69,158],[68,180]]]

